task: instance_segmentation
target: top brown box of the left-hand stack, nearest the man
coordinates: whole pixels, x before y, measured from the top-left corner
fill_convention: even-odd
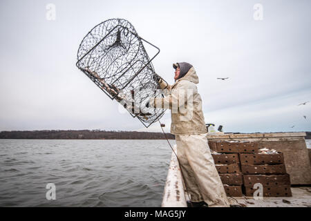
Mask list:
[[[215,151],[219,153],[258,153],[258,150],[258,142],[216,142]]]

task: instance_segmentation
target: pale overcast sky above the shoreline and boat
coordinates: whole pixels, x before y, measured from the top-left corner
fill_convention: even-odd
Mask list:
[[[111,18],[160,48],[153,66],[170,84],[172,63],[194,66],[206,122],[225,132],[311,131],[310,17],[308,0],[1,0],[0,131],[146,131],[75,66],[83,37]],[[162,121],[169,131],[169,111]]]

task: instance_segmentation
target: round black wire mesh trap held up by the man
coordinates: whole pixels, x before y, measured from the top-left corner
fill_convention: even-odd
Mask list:
[[[164,109],[145,106],[151,96],[157,97],[160,93],[156,93],[158,83],[153,79],[156,73],[151,64],[158,53],[149,59],[142,41],[145,40],[129,21],[109,19],[84,37],[77,52],[77,67],[148,127],[162,117]]]

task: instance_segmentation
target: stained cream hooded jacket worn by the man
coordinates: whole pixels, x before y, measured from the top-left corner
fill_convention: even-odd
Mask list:
[[[207,133],[202,113],[202,99],[196,87],[198,83],[198,75],[192,67],[172,86],[163,88],[160,84],[166,97],[150,99],[151,106],[155,108],[171,109],[171,133],[176,135]]]

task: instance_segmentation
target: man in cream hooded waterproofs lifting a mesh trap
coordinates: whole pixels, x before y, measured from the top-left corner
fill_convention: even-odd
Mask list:
[[[173,64],[173,68],[175,84],[172,86],[160,77],[156,79],[166,97],[151,98],[148,104],[154,108],[171,109],[171,133],[176,135],[178,160],[192,204],[229,206],[207,144],[196,70],[186,62]]]

